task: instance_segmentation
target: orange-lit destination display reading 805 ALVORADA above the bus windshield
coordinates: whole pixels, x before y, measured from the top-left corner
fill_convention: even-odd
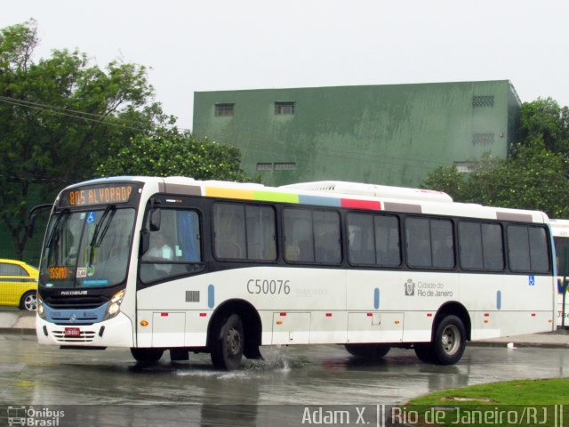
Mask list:
[[[108,184],[84,189],[69,189],[61,197],[61,206],[108,205],[126,203],[132,195],[132,184]]]

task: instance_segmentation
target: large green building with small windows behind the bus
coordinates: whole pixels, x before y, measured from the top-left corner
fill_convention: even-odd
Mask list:
[[[506,157],[520,108],[508,80],[196,92],[193,132],[241,149],[266,185],[416,187],[440,165]]]

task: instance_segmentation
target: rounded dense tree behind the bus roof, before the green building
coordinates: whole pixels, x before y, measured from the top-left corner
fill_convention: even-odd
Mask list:
[[[177,129],[137,135],[116,154],[100,162],[101,176],[188,176],[199,180],[251,181],[240,168],[239,149]]]

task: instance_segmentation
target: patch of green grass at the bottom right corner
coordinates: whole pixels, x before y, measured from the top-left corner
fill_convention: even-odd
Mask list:
[[[411,421],[419,426],[565,426],[569,425],[569,378],[517,380],[435,391],[410,400],[405,411],[418,415],[416,422]],[[437,414],[440,416],[435,419]]]

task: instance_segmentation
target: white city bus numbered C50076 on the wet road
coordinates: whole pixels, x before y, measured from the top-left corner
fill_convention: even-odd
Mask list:
[[[469,340],[553,329],[548,222],[349,182],[86,181],[52,206],[36,334],[222,369],[274,344],[453,364]]]

